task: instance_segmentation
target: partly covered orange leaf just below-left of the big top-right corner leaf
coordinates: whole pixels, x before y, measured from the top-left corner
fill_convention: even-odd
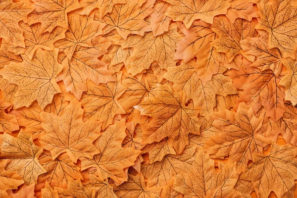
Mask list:
[[[261,71],[271,69],[276,76],[280,75],[283,67],[282,54],[277,48],[269,49],[267,34],[261,32],[260,37],[246,38],[240,44],[247,55],[257,57],[251,67],[258,67]]]

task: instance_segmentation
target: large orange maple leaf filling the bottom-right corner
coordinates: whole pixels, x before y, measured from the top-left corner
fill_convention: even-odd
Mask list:
[[[253,162],[247,166],[243,179],[253,183],[258,197],[268,198],[271,191],[279,198],[294,197],[294,180],[297,178],[295,156],[295,147],[273,143],[269,155],[253,155]]]

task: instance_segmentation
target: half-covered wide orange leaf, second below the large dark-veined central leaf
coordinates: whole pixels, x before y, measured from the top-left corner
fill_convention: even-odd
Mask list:
[[[195,152],[196,147],[187,146],[181,155],[169,154],[164,156],[161,161],[142,164],[142,173],[148,178],[147,186],[165,186],[177,174],[191,172],[192,163],[195,161]]]

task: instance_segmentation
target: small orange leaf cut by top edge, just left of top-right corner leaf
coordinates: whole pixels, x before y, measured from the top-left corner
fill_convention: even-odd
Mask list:
[[[230,0],[231,6],[227,10],[227,18],[234,23],[237,18],[243,18],[251,21],[252,18],[258,18],[259,14],[249,0]]]

